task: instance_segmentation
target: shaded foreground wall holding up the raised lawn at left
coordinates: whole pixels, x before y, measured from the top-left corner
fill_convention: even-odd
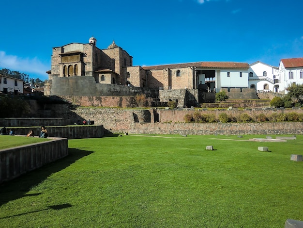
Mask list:
[[[14,179],[67,155],[68,143],[67,139],[64,138],[56,138],[51,141],[22,147],[1,149],[0,183]]]

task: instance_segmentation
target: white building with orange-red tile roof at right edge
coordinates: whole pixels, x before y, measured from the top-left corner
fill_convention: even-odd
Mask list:
[[[303,84],[303,58],[281,59],[279,65],[280,91],[285,91],[291,84]]]

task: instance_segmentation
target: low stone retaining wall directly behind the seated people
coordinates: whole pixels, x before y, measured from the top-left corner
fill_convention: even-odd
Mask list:
[[[68,139],[82,139],[82,138],[101,138],[105,134],[105,129],[102,125],[75,125],[75,126],[61,126],[61,127],[47,127],[50,137],[61,137]],[[34,131],[35,136],[39,136],[41,127],[29,128],[12,128],[17,135],[27,135],[30,130]],[[9,129],[7,129],[9,130]]]

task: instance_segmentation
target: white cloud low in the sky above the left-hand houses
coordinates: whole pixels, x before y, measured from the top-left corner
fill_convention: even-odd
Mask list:
[[[45,77],[45,71],[49,70],[49,65],[44,65],[36,57],[33,59],[22,58],[16,55],[8,55],[5,51],[0,50],[0,69],[7,68],[19,71],[21,73],[42,75]]]

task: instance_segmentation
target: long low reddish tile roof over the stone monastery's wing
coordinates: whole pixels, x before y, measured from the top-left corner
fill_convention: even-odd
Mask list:
[[[142,66],[145,70],[160,70],[165,68],[184,68],[189,66],[201,67],[201,68],[221,68],[221,69],[248,69],[247,63],[235,63],[235,62],[196,62],[185,64],[170,64],[170,65],[154,65],[154,66]]]

